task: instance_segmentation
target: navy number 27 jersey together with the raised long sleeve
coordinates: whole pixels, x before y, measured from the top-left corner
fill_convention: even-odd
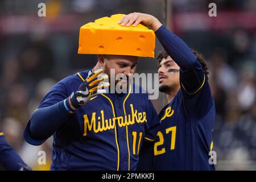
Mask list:
[[[160,129],[154,145],[155,169],[212,170],[214,165],[209,164],[209,152],[212,150],[215,106],[208,78],[183,40],[164,26],[155,33],[180,67],[180,90],[159,113]]]

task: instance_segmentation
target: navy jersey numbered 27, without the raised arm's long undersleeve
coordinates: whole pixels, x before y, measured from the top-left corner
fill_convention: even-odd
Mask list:
[[[208,81],[195,96],[182,88],[159,113],[160,130],[154,146],[157,170],[212,170],[212,130],[215,118]]]

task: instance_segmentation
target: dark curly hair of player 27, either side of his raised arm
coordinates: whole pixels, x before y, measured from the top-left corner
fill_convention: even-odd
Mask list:
[[[209,75],[209,72],[208,72],[208,66],[207,66],[207,63],[206,61],[204,60],[204,56],[199,53],[198,51],[196,51],[195,49],[192,49],[191,48],[191,51],[193,52],[193,54],[196,56],[197,60],[199,60],[199,63],[201,64],[203,70],[204,70],[204,75],[207,77],[208,79],[208,75]],[[160,62],[163,60],[163,59],[166,59],[168,57],[168,53],[166,52],[166,50],[162,50],[158,53],[158,56],[156,57],[156,60],[158,60],[158,63],[160,64]]]

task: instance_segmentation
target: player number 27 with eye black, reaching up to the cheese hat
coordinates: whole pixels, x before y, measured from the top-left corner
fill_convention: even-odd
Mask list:
[[[151,27],[166,50],[158,56],[158,73],[159,90],[166,93],[168,104],[159,113],[154,168],[213,170],[209,154],[213,146],[215,107],[205,61],[152,15],[131,13],[119,23]]]

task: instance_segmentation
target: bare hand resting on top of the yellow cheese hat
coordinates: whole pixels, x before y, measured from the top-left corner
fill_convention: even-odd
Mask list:
[[[152,15],[144,14],[144,13],[130,13],[128,15],[123,16],[123,18],[118,22],[121,26],[137,26],[139,23],[144,26],[150,27],[152,30],[156,31],[162,23],[159,22],[157,18]]]

